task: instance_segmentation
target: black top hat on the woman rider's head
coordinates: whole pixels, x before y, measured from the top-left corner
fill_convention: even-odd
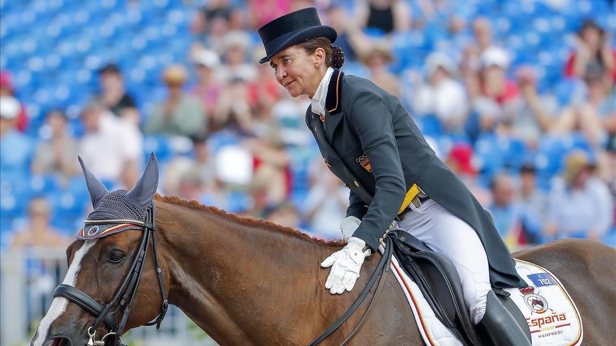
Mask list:
[[[334,42],[338,34],[331,26],[321,25],[317,9],[308,7],[285,14],[261,26],[259,36],[261,36],[261,41],[265,46],[265,54],[267,54],[266,57],[259,60],[259,63],[264,63],[281,50],[294,44],[321,36],[325,36],[331,42]]]

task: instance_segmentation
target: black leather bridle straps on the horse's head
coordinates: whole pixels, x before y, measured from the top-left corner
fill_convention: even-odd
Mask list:
[[[128,315],[131,312],[132,302],[135,299],[137,293],[137,286],[139,286],[139,281],[141,279],[141,275],[144,271],[145,257],[148,251],[148,245],[150,243],[150,238],[152,238],[152,251],[154,254],[154,265],[156,268],[156,273],[158,274],[158,284],[160,284],[161,296],[163,297],[163,304],[161,305],[160,312],[156,318],[148,323],[143,324],[144,326],[153,326],[156,324],[156,329],[160,328],[160,324],[163,321],[164,315],[166,315],[167,310],[169,308],[169,303],[167,300],[167,295],[164,289],[164,281],[163,281],[163,272],[158,264],[158,255],[156,253],[156,238],[155,238],[155,211],[156,206],[154,202],[150,203],[147,209],[147,215],[145,221],[135,220],[135,219],[104,219],[104,220],[93,220],[86,219],[84,223],[86,225],[107,225],[114,223],[134,223],[136,225],[140,225],[143,227],[144,234],[141,238],[141,243],[139,245],[139,249],[137,250],[137,255],[135,260],[132,262],[131,270],[128,272],[126,277],[120,287],[117,289],[111,301],[103,307],[97,302],[94,298],[88,296],[84,292],[79,291],[79,289],[74,288],[73,286],[69,286],[67,284],[60,284],[54,290],[54,297],[64,297],[71,302],[75,302],[80,307],[84,308],[87,312],[96,316],[96,320],[94,320],[94,324],[90,328],[88,328],[88,334],[91,340],[95,339],[95,331],[100,326],[101,323],[104,323],[107,326],[109,334],[115,334],[117,337],[116,344],[120,344],[120,336],[124,331],[124,327],[126,326],[126,321],[128,320]],[[115,305],[117,307],[113,312],[111,308]],[[123,315],[120,323],[116,323],[115,315],[118,313],[122,307]],[[90,329],[94,332],[90,332]],[[103,337],[103,344],[104,344]],[[99,344],[97,344],[99,345]]]

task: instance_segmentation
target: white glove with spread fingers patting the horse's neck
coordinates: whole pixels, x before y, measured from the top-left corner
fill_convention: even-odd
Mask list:
[[[327,257],[321,267],[331,267],[330,276],[325,281],[325,288],[331,294],[341,294],[344,289],[351,291],[355,286],[355,281],[359,278],[359,271],[362,269],[363,259],[370,255],[370,249],[362,251],[366,242],[352,236],[342,250],[336,251]]]

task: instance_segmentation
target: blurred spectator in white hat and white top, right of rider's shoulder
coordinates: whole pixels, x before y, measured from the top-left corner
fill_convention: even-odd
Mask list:
[[[411,104],[416,115],[433,115],[447,132],[463,132],[469,105],[463,84],[456,81],[458,69],[452,58],[435,52],[425,64],[426,84],[419,86]]]

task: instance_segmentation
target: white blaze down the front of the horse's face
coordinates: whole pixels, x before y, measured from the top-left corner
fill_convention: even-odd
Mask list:
[[[67,276],[64,277],[63,284],[68,284],[71,286],[75,286],[77,282],[77,275],[79,274],[79,269],[81,269],[81,260],[86,255],[87,251],[96,243],[98,239],[86,240],[85,243],[79,247],[79,250],[75,252],[75,257],[73,257],[73,262],[71,262],[70,267],[68,267]],[[63,297],[55,297],[51,302],[51,307],[47,310],[47,315],[43,317],[41,320],[41,324],[39,324],[38,332],[36,340],[33,342],[33,346],[43,346],[43,341],[47,337],[47,332],[49,332],[49,326],[51,323],[55,321],[62,313],[67,309],[68,299]]]

